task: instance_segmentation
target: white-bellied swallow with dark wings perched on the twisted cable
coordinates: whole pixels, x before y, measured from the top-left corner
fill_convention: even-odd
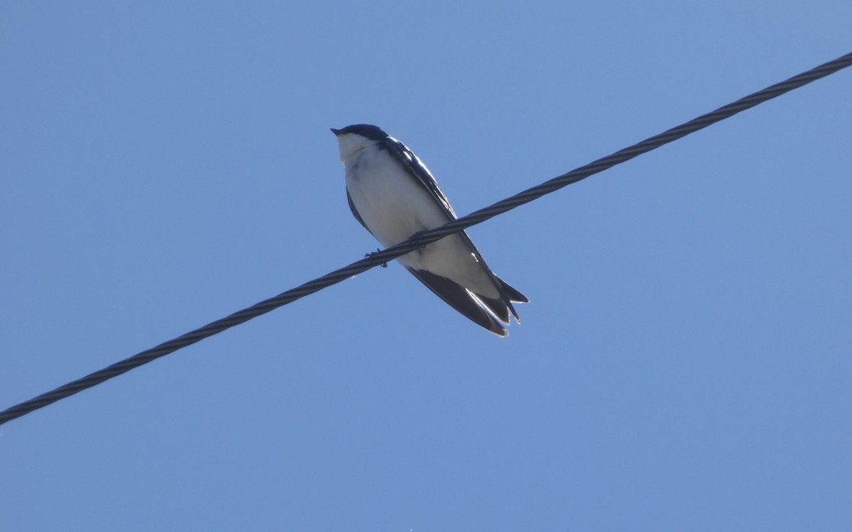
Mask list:
[[[366,123],[337,135],[346,197],[355,219],[385,248],[457,218],[435,177],[408,146]],[[504,337],[512,303],[527,296],[494,275],[467,232],[457,232],[397,260],[440,299],[472,322]]]

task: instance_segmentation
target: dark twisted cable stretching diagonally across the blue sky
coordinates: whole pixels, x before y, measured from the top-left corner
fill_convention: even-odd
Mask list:
[[[86,375],[82,379],[74,380],[64,386],[60,386],[52,392],[43,393],[29,401],[16,404],[13,407],[0,412],[0,425],[22,415],[29,414],[33,410],[41,409],[50,403],[55,403],[60,399],[70,397],[77,392],[85,390],[86,388],[101,384],[101,382],[110,380],[112,377],[116,377],[124,372],[130,371],[130,369],[138,368],[139,366],[147,364],[157,358],[164,357],[171,352],[176,352],[178,349],[191,346],[199,340],[204,340],[204,338],[221,333],[225,329],[230,329],[235,325],[247,322],[253,317],[266,314],[279,306],[285,306],[286,304],[301,299],[306,295],[311,295],[314,292],[325,289],[332,284],[340,283],[343,279],[352,277],[360,272],[366,272],[374,266],[379,266],[383,263],[389,262],[390,260],[394,260],[401,255],[406,255],[406,253],[413,251],[414,249],[418,249],[428,243],[433,243],[436,240],[440,240],[440,238],[446,237],[454,232],[462,231],[469,226],[475,226],[476,224],[489,220],[494,216],[501,215],[506,211],[515,209],[515,207],[519,207],[524,203],[529,203],[538,197],[544,196],[545,194],[555,192],[563,186],[571,185],[579,180],[589,177],[592,174],[597,174],[598,172],[612,168],[616,164],[629,161],[633,157],[642,155],[642,153],[650,152],[653,149],[659,148],[659,146],[663,146],[673,140],[680,139],[681,137],[694,133],[699,129],[704,129],[712,123],[717,123],[725,118],[732,117],[738,112],[757,106],[757,104],[771,100],[776,96],[780,96],[781,94],[791,91],[792,89],[797,89],[803,85],[820,79],[820,77],[826,77],[829,74],[838,72],[838,70],[850,65],[852,65],[852,54],[843,55],[843,57],[840,57],[837,60],[829,61],[824,65],[817,66],[813,70],[791,77],[784,82],[776,83],[771,87],[760,90],[754,94],[750,94],[740,100],[736,100],[734,103],[720,107],[716,111],[708,112],[705,115],[694,118],[693,120],[683,123],[676,128],[669,129],[664,133],[642,140],[642,142],[639,142],[638,144],[634,144],[633,146],[627,147],[619,152],[615,152],[607,157],[597,159],[595,162],[581,166],[579,169],[574,169],[567,174],[562,174],[552,180],[545,181],[541,185],[528,188],[519,194],[515,194],[515,196],[508,197],[503,201],[494,203],[490,207],[477,210],[467,216],[458,218],[458,220],[452,220],[444,226],[420,233],[416,238],[409,239],[406,242],[399,243],[388,249],[374,253],[366,259],[353,262],[349,266],[335,270],[334,272],[314,279],[309,283],[304,283],[295,289],[287,290],[273,298],[263,300],[260,303],[245,308],[239,312],[234,312],[228,317],[223,317],[213,323],[208,323],[207,325],[204,325],[204,327],[188,332],[186,335],[164,342],[156,347],[135,354],[130,358],[125,358],[124,360],[114,363],[107,368],[100,369],[95,371],[95,373]]]

